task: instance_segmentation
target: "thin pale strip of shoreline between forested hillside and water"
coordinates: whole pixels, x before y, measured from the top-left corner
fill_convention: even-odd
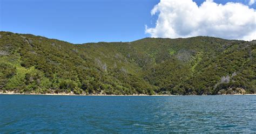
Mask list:
[[[146,95],[146,94],[133,94],[133,95],[105,95],[105,94],[36,94],[36,93],[14,93],[9,91],[8,93],[0,92],[0,95],[51,95],[51,96],[206,96],[206,95]],[[256,95],[256,94],[220,94],[220,95]],[[211,95],[210,95],[211,96]]]

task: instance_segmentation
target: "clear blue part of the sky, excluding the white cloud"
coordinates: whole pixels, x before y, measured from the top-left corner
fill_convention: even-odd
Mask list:
[[[154,27],[151,16],[155,0],[0,0],[0,31],[31,33],[38,36],[89,43],[133,41],[151,37],[145,25]],[[198,5],[203,0],[194,1]],[[216,0],[215,3],[248,1]],[[249,6],[249,5],[248,5]],[[250,5],[255,9],[255,4]]]

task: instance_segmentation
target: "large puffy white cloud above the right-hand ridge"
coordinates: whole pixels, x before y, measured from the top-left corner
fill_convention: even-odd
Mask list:
[[[151,10],[151,15],[156,14],[156,27],[145,30],[151,37],[256,39],[256,11],[241,3],[206,0],[198,6],[192,0],[161,0]]]

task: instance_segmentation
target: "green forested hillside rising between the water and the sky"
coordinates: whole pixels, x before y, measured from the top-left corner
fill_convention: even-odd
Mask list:
[[[71,44],[0,32],[0,90],[74,94],[252,94],[256,41],[145,38]]]

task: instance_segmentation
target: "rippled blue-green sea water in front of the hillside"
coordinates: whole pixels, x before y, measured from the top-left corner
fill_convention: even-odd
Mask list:
[[[0,95],[0,133],[256,133],[256,95]]]

